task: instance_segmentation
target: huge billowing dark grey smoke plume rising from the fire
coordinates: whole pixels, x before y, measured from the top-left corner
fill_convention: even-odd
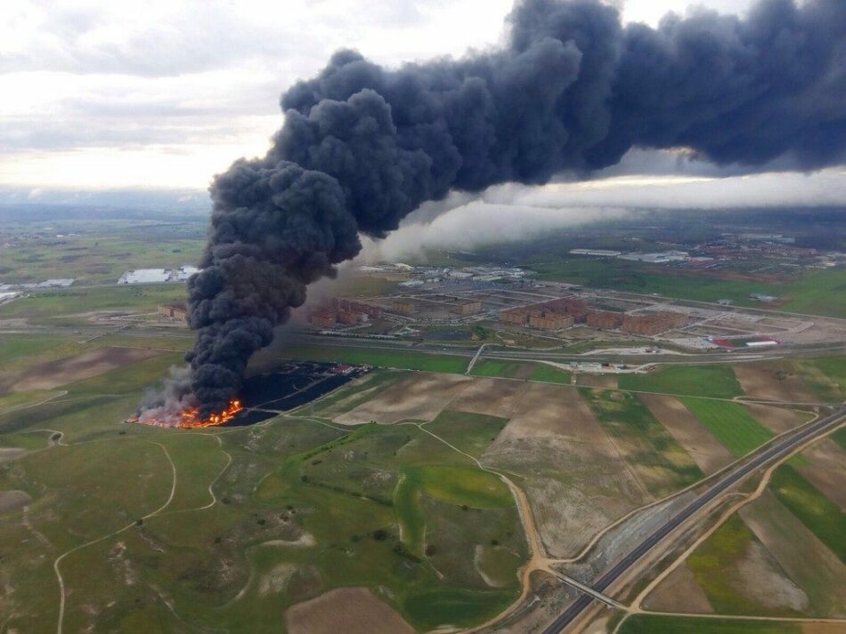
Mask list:
[[[305,286],[451,190],[541,184],[614,165],[632,147],[718,164],[846,148],[846,3],[766,0],[741,20],[700,12],[622,27],[596,0],[525,0],[508,43],[461,60],[381,68],[352,51],[282,95],[263,158],[212,186],[212,230],[190,282],[190,390],[202,413],[240,388],[249,357]],[[186,386],[186,389],[188,387]]]

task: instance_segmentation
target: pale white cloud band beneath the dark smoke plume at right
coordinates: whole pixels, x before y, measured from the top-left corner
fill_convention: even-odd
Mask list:
[[[384,240],[366,240],[356,262],[401,261],[428,249],[472,250],[516,242],[634,209],[689,210],[846,205],[842,168],[812,174],[763,173],[712,178],[633,175],[601,181],[507,184],[479,197],[452,194],[422,205]]]

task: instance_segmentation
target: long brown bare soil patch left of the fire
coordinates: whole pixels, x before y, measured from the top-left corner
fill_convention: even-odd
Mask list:
[[[139,348],[101,348],[75,357],[34,365],[20,374],[12,389],[53,389],[90,379],[119,367],[156,357],[161,352]]]

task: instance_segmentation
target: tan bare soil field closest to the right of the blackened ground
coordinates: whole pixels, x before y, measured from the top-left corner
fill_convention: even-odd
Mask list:
[[[455,374],[412,373],[334,420],[344,425],[406,419],[431,421],[469,381],[472,379]]]

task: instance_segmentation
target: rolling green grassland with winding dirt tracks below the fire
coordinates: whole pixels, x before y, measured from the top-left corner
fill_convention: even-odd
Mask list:
[[[113,339],[83,346],[4,336],[0,362],[14,374]],[[168,340],[150,334],[140,341],[160,347]],[[32,497],[28,525],[21,510],[0,517],[0,576],[13,588],[0,600],[4,627],[55,631],[54,559],[113,531],[118,534],[61,561],[69,589],[65,631],[261,634],[281,630],[287,606],[349,585],[385,589],[394,597],[388,602],[420,627],[445,619],[473,624],[516,598],[527,547],[513,498],[499,478],[414,425],[347,430],[294,416],[191,431],[122,423],[144,389],[180,358],[163,352],[71,382],[62,386],[64,395],[33,390],[0,396],[0,446],[28,451],[0,465],[0,491]],[[433,369],[451,357],[411,358]],[[463,372],[467,359],[452,361],[452,369]],[[404,375],[374,371],[329,394],[315,414],[345,411]],[[51,396],[48,403],[16,409]],[[433,424],[461,451],[481,453],[506,422],[455,412]],[[411,515],[397,486],[406,473],[410,499],[419,502],[409,507]],[[419,546],[400,539],[400,526],[413,524],[415,510],[425,529]],[[288,545],[300,538],[313,545]],[[477,549],[483,553],[478,558]],[[489,587],[482,571],[501,588]],[[443,611],[422,614],[421,601],[432,597],[443,600]]]

